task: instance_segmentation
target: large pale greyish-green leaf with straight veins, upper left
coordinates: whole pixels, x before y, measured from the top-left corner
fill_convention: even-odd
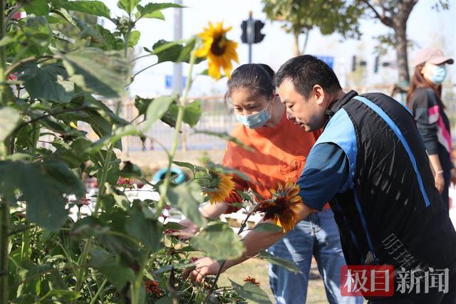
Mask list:
[[[130,80],[128,62],[116,52],[81,48],[60,55],[71,80],[84,90],[118,98]]]

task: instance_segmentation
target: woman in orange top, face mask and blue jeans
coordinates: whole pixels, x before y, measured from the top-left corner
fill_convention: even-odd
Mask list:
[[[269,190],[276,189],[279,182],[297,182],[319,135],[319,132],[305,132],[286,119],[285,106],[274,92],[273,76],[274,71],[268,65],[241,65],[232,73],[226,95],[241,122],[232,136],[253,149],[246,150],[229,142],[222,164],[251,179],[246,182],[234,176],[236,189],[252,189],[264,199],[270,198]],[[207,204],[200,210],[203,216],[217,218],[222,213],[237,211],[230,203],[239,201],[242,198],[232,191],[221,204]],[[187,231],[197,231],[190,221],[181,224],[188,227]],[[269,283],[276,303],[306,302],[312,256],[318,263],[329,303],[363,302],[362,298],[341,296],[340,271],[345,260],[336,222],[328,207],[297,224],[269,252],[294,261],[302,272],[296,274],[276,265],[269,266]]]

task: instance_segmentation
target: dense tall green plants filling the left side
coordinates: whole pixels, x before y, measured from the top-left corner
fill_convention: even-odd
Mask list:
[[[191,266],[193,251],[234,258],[244,250],[231,229],[208,224],[198,210],[205,196],[196,172],[235,172],[174,159],[182,124],[194,127],[202,112],[199,101],[187,103],[192,67],[204,60],[195,56],[201,42],[193,36],[145,48],[145,56],[157,58],[154,65],[190,64],[187,85],[182,96],[137,96],[138,117],[145,119],[139,125],[136,119],[126,121],[119,116],[120,103],[141,73],[132,75],[133,63],[144,57],[132,58],[140,38],[136,25],[164,19],[163,9],[180,6],[140,0],[119,0],[118,6],[122,16],[113,16],[102,1],[1,1],[0,303],[242,303],[233,288],[216,288],[216,279],[207,289],[180,274]],[[15,19],[18,11],[26,16]],[[115,29],[93,23],[94,17],[108,19]],[[113,109],[103,103],[106,98],[114,100]],[[173,184],[168,170],[152,185],[135,164],[116,157],[122,137],[145,138],[158,120],[175,128],[168,169],[187,167],[189,182]],[[99,140],[88,140],[80,122],[90,125]],[[86,197],[84,176],[97,179],[93,197]],[[128,199],[132,179],[149,184],[160,199]],[[83,214],[90,201],[91,214]],[[75,219],[68,216],[73,207]],[[192,242],[212,240],[217,246],[182,247],[167,236],[167,229],[178,228],[163,220],[162,211],[170,207],[203,227]],[[214,227],[219,227],[215,241],[207,234]],[[230,248],[229,254],[217,248]]]

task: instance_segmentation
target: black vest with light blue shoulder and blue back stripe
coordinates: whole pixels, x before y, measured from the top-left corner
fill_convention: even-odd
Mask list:
[[[350,164],[349,182],[330,202],[347,264],[454,263],[456,232],[410,112],[387,95],[351,91],[326,114],[318,142],[341,147]]]

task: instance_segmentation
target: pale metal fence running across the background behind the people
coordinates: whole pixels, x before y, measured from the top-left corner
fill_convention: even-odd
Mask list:
[[[358,91],[358,93],[366,92],[380,92],[387,95],[392,95],[393,98],[400,103],[405,103],[405,93],[393,92],[393,85],[382,85],[375,87],[356,87],[351,88]],[[346,90],[349,90],[348,88]],[[211,149],[224,149],[226,142],[219,137],[211,135],[198,134],[195,130],[207,130],[210,132],[227,132],[230,133],[236,120],[232,114],[231,106],[224,103],[223,96],[210,96],[204,98],[195,98],[194,100],[201,100],[202,103],[202,116],[195,126],[183,125],[182,134],[180,136],[180,150],[211,150]],[[448,117],[452,125],[453,142],[456,142],[456,86],[445,87],[442,91],[442,100],[445,103]],[[191,102],[192,100],[190,100]],[[107,102],[108,106],[112,105]],[[123,103],[120,115],[125,120],[133,120],[138,115],[134,101],[130,100]],[[86,126],[88,127],[88,126]],[[95,133],[91,132],[90,128],[87,130],[89,137],[96,140]],[[156,122],[155,125],[146,133],[147,138],[141,140],[140,137],[124,137],[123,150],[124,152],[135,152],[141,150],[163,150],[163,148],[170,149],[172,145],[172,137],[174,129],[164,122]]]

